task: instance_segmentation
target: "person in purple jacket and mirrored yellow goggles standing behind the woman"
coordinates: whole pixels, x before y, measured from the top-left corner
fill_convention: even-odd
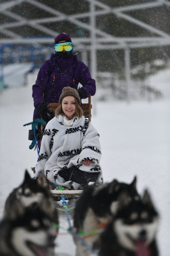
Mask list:
[[[60,33],[54,39],[54,50],[51,58],[40,68],[37,80],[33,85],[34,116],[46,123],[54,117],[47,109],[50,102],[58,102],[65,86],[75,88],[81,99],[96,93],[95,80],[91,78],[88,67],[73,54],[73,45],[69,34]],[[78,84],[82,87],[78,89]]]

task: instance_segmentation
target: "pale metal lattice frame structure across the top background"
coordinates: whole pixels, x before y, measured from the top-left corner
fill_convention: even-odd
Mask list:
[[[98,49],[106,50],[106,49],[124,49],[124,61],[125,61],[125,76],[126,76],[126,84],[127,84],[127,95],[128,95],[128,87],[130,84],[130,50],[134,48],[144,48],[144,47],[157,47],[157,46],[166,46],[170,45],[170,34],[157,29],[145,22],[142,22],[140,19],[134,18],[127,14],[128,11],[135,10],[145,10],[149,8],[156,8],[159,6],[166,5],[167,8],[170,7],[170,2],[167,0],[148,0],[143,3],[131,4],[127,6],[120,6],[117,8],[112,8],[106,3],[100,2],[100,0],[85,0],[89,3],[89,10],[85,13],[75,13],[66,15],[57,10],[54,10],[47,4],[40,3],[38,0],[10,0],[8,2],[0,3],[0,13],[6,15],[7,17],[13,18],[16,22],[6,23],[0,25],[0,33],[8,37],[0,38],[0,44],[8,43],[53,43],[54,35],[60,33],[61,31],[54,31],[45,26],[45,24],[50,22],[60,22],[66,20],[72,24],[78,25],[81,28],[84,28],[89,31],[89,38],[72,38],[74,42],[74,48],[78,50],[82,50],[85,52],[91,49],[91,74],[92,77],[96,78],[96,62],[97,62],[97,53]],[[27,19],[24,16],[20,16],[10,11],[15,5],[20,5],[23,2],[27,2],[29,4],[34,5],[36,8],[44,10],[48,12],[51,17],[45,18],[34,18]],[[98,16],[106,15],[106,14],[114,14],[119,19],[125,19],[128,22],[131,22],[141,28],[144,28],[151,32],[153,36],[150,37],[114,37],[111,34],[106,33],[96,27],[96,18]],[[85,23],[80,20],[80,18],[89,18],[90,23]],[[43,31],[48,35],[48,38],[23,38],[20,34],[10,32],[8,29],[20,27],[23,25],[29,25],[32,28]],[[103,42],[105,44],[103,44]],[[107,42],[107,43],[106,43]],[[90,46],[89,46],[90,44]],[[84,59],[86,59],[86,54],[83,55]]]

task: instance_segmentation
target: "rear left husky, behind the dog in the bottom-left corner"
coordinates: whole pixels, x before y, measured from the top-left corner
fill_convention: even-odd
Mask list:
[[[58,213],[43,173],[34,180],[25,171],[22,184],[12,191],[5,202],[4,217],[15,219],[28,208],[39,208],[58,224]]]

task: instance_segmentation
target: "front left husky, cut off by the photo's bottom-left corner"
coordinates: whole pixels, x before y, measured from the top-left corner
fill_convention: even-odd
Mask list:
[[[54,250],[55,228],[42,211],[27,209],[16,219],[0,223],[1,256],[49,256]]]

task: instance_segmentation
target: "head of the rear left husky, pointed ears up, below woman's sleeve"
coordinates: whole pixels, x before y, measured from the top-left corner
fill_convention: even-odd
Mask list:
[[[32,179],[26,170],[22,184],[16,189],[16,198],[22,207],[36,208],[49,197],[48,184],[43,173],[36,180]]]

